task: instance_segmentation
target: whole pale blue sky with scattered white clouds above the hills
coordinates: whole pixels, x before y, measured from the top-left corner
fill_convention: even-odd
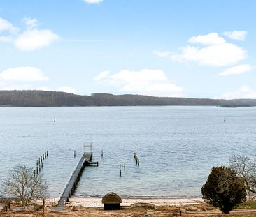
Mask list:
[[[254,0],[1,0],[0,89],[256,98]]]

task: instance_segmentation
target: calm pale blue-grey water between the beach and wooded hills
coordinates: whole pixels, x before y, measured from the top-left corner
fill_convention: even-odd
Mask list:
[[[255,107],[0,107],[0,183],[48,150],[43,173],[57,197],[92,142],[99,167],[85,168],[76,195],[199,196],[211,167],[256,154],[255,123]]]

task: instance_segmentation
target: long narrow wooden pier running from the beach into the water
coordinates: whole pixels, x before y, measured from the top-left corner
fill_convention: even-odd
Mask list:
[[[66,184],[66,187],[62,191],[62,194],[59,195],[59,202],[57,204],[57,207],[64,207],[66,202],[69,202],[69,197],[71,197],[71,195],[73,195],[73,193],[75,192],[76,186],[83,173],[85,166],[97,164],[97,163],[92,163],[91,160],[92,160],[92,152],[87,152],[83,154],[75,170],[73,170],[73,173],[71,174],[68,184]]]

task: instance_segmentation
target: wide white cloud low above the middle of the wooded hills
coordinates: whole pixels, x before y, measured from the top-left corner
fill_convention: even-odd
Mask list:
[[[162,70],[120,70],[113,75],[99,73],[94,80],[119,87],[119,91],[149,96],[183,96],[183,87],[169,81]],[[100,78],[101,77],[101,78]]]

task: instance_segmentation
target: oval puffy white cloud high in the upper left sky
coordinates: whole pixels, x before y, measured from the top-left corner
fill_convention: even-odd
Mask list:
[[[15,47],[23,51],[33,51],[49,46],[59,40],[59,36],[50,29],[30,29],[15,39]]]

